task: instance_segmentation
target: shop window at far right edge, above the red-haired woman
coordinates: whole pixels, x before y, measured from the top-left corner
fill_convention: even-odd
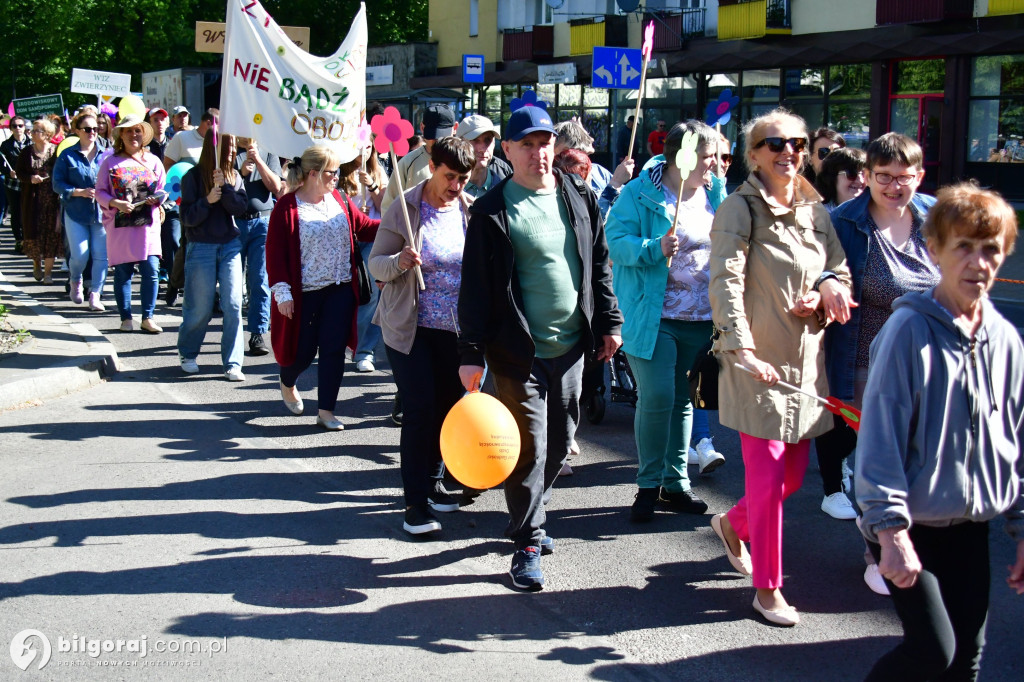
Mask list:
[[[974,59],[968,117],[968,161],[1024,163],[1024,55]]]

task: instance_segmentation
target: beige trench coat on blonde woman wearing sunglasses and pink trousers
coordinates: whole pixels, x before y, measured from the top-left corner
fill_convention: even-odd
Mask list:
[[[852,286],[846,254],[821,198],[797,178],[792,208],[769,198],[755,173],[715,214],[711,231],[711,306],[721,332],[719,421],[742,433],[796,443],[825,433],[831,414],[796,391],[769,387],[733,367],[725,351],[752,348],[782,381],[828,395],[822,341],[815,315],[791,312],[823,272]]]

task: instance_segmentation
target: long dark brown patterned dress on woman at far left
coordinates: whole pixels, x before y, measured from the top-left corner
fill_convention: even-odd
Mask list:
[[[50,178],[56,163],[56,147],[47,144],[42,154],[30,144],[17,158],[17,178],[22,182],[22,225],[25,230],[25,255],[32,260],[56,258],[63,254],[63,238],[57,222],[60,198],[53,191]],[[33,184],[32,176],[46,180]]]

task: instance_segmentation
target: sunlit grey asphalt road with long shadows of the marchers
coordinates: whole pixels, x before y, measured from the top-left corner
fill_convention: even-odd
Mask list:
[[[2,268],[108,334],[124,369],[0,414],[0,640],[32,628],[53,647],[42,671],[4,657],[2,679],[858,680],[898,641],[889,600],[861,580],[853,523],[818,509],[813,461],[785,509],[783,590],[803,616],[796,628],[754,613],[750,581],[731,571],[708,525],[741,495],[735,434],[713,426],[727,462],[696,480],[707,516],[629,522],[636,455],[626,403],[582,427],[577,473],[558,481],[549,507],[548,587],[516,593],[500,492],[443,515],[435,541],[401,530],[386,372],[348,374],[345,431],[325,433],[313,426],[312,371],[299,382],[307,414],[292,417],[270,356],[247,357],[245,383],[221,378],[219,321],[201,374],[186,377],[174,347],[179,308],[158,307],[162,335],[120,334],[116,313],[73,306],[61,288],[31,282],[25,263],[5,254]],[[1001,528],[993,522],[984,680],[1020,679],[1024,599],[1005,585],[1013,547]],[[223,650],[151,649],[144,659],[59,650],[76,634]],[[118,660],[153,666],[102,665]]]

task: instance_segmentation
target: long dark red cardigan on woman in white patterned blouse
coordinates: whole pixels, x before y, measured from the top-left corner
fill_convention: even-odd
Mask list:
[[[335,189],[332,195],[348,217],[349,253],[352,263],[352,291],[358,300],[358,283],[355,280],[355,238],[360,242],[373,242],[377,237],[380,220],[367,217],[352,204],[352,200]],[[299,209],[295,193],[289,193],[278,201],[270,214],[270,224],[266,233],[266,273],[271,285],[287,282],[292,287],[295,311],[289,319],[281,314],[276,305],[270,306],[270,345],[278,365],[288,367],[295,361],[295,351],[299,345],[299,321],[302,319],[302,250],[299,245]],[[356,307],[352,311],[351,332],[348,347],[355,352]]]

